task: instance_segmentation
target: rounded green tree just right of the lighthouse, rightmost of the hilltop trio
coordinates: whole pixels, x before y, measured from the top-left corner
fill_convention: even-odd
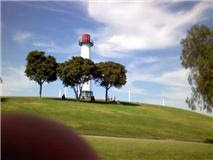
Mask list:
[[[112,61],[96,64],[96,83],[105,88],[105,101],[108,99],[108,91],[111,87],[121,88],[126,84],[125,67]]]

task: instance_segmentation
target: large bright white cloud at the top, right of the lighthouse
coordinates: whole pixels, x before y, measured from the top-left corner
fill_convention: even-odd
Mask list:
[[[200,2],[189,10],[171,12],[156,1],[89,0],[88,14],[105,26],[98,30],[99,53],[121,57],[121,53],[125,55],[130,50],[161,49],[179,44],[186,25],[197,22],[211,7],[209,3]]]

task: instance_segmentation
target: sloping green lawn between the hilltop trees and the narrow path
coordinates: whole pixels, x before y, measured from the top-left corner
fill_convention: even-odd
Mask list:
[[[45,116],[84,135],[197,142],[213,140],[213,118],[156,105],[4,97],[1,111]]]

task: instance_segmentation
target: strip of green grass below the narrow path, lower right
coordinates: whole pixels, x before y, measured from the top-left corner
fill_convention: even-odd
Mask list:
[[[101,160],[213,160],[213,145],[176,141],[86,138]]]

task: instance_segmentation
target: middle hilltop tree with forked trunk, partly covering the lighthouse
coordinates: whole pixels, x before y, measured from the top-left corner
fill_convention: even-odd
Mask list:
[[[63,84],[73,89],[76,100],[80,100],[83,85],[93,78],[95,68],[94,62],[90,59],[72,57],[72,59],[59,64],[57,72]]]

